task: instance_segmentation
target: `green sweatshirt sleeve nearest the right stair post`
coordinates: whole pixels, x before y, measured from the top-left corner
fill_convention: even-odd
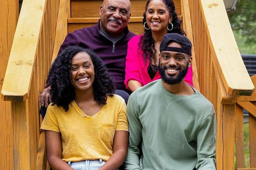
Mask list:
[[[206,117],[197,133],[197,170],[215,170],[216,166],[216,116]]]

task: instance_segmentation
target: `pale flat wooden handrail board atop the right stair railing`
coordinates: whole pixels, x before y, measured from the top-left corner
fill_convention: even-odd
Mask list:
[[[226,92],[251,96],[254,86],[239,53],[223,0],[199,0],[213,62]]]

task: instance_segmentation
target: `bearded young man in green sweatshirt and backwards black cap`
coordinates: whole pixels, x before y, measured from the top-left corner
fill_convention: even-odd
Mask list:
[[[125,169],[216,169],[213,105],[184,81],[192,64],[191,47],[189,39],[182,35],[164,35],[159,58],[162,79],[131,94]]]

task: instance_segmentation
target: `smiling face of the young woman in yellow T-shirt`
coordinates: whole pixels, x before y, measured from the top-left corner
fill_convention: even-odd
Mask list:
[[[75,90],[86,91],[93,89],[94,66],[87,53],[79,52],[74,55],[71,61],[70,72]]]

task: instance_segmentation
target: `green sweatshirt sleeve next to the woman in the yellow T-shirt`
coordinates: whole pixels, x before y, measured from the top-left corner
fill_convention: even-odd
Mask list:
[[[139,145],[142,139],[142,125],[139,120],[139,109],[136,94],[132,93],[127,104],[129,122],[128,154],[124,162],[125,170],[142,170],[139,165]]]

